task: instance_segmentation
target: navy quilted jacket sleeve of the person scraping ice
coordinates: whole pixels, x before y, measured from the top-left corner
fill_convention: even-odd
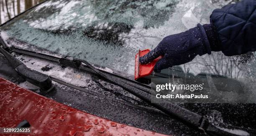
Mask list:
[[[215,9],[204,25],[212,51],[226,56],[256,51],[256,0],[243,0]]]

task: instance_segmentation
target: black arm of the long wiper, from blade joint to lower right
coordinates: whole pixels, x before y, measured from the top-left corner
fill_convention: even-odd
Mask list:
[[[93,67],[87,61],[84,61],[84,60],[80,60],[80,61],[86,64],[88,67],[90,67],[100,77],[103,77],[104,79],[107,79],[109,82],[122,87],[123,89],[130,92],[131,94],[137,96],[143,101],[146,101],[148,104],[151,104],[156,109],[163,111],[165,114],[169,116],[176,117],[178,120],[182,121],[184,124],[187,124],[188,126],[198,131],[206,133],[210,136],[242,136],[239,134],[233,134],[233,133],[230,133],[229,131],[220,129],[217,126],[212,125],[204,116],[200,116],[176,104],[166,103],[164,100],[161,100],[161,99],[159,103],[151,103],[151,94],[146,93],[145,91],[141,91],[140,89],[133,87],[129,84],[126,84],[123,81],[116,80],[115,78],[106,76],[104,73],[100,72],[98,69]],[[148,90],[148,91],[152,92],[151,90]]]

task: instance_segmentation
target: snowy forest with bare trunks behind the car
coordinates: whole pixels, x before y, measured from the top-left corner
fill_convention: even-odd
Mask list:
[[[0,24],[44,0],[0,0]]]

